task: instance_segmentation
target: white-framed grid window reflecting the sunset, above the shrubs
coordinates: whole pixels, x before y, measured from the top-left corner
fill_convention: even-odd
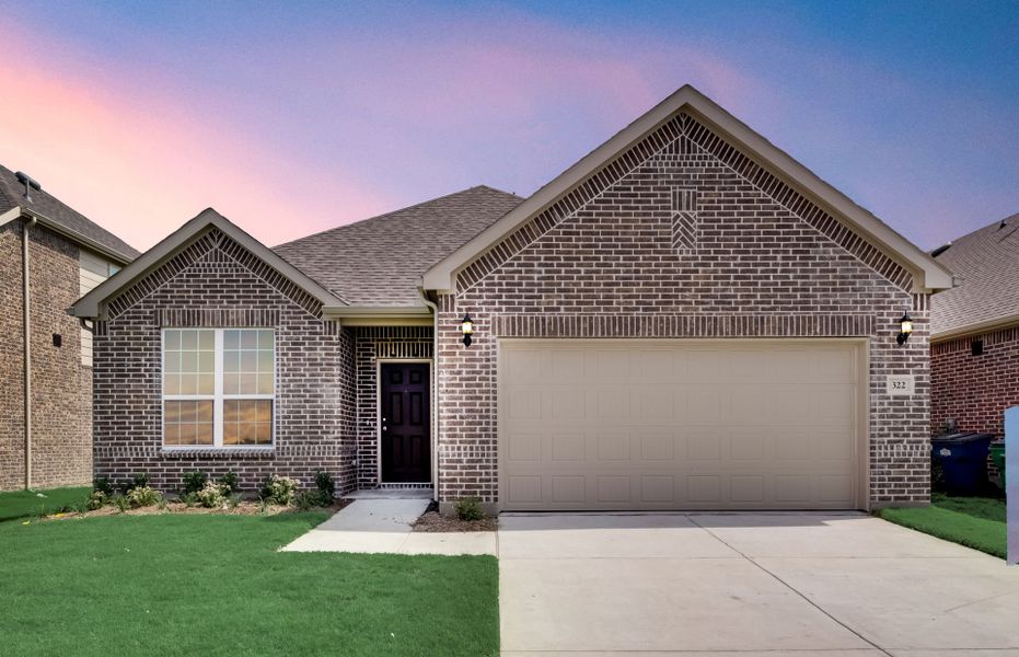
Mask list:
[[[273,445],[271,328],[163,330],[163,445]]]

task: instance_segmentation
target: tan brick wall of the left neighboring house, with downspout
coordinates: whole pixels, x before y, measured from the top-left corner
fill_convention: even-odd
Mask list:
[[[24,221],[0,227],[0,491],[24,487]],[[92,476],[92,370],[81,365],[81,331],[66,309],[78,299],[79,250],[28,229],[32,326],[32,486],[80,485]],[[61,346],[54,345],[54,334]]]

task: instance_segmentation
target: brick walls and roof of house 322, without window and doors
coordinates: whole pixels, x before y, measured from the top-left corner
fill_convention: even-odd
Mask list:
[[[844,197],[825,200],[837,192],[800,185],[784,153],[749,152],[732,137],[745,126],[729,117],[726,132],[702,111],[728,116],[684,88],[614,140],[639,138],[606,142],[528,200],[475,187],[275,251],[200,215],[76,304],[101,327],[96,471],[173,488],[195,468],[246,486],[325,469],[344,491],[378,486],[378,364],[425,358],[437,498],[494,508],[499,339],[833,337],[868,344],[869,504],[927,502],[928,299],[950,277]],[[455,258],[449,284],[429,283]],[[900,346],[904,311],[914,331]],[[273,447],[162,446],[167,326],[276,328]],[[914,394],[889,397],[888,374],[912,374]]]

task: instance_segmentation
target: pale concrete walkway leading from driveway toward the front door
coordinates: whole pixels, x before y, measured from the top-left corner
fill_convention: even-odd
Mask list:
[[[410,526],[429,504],[429,499],[356,499],[281,550],[445,555],[496,553],[495,532],[412,531]]]

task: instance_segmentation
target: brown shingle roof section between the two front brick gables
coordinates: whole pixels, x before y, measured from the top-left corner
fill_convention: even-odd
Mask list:
[[[420,306],[421,274],[523,198],[471,187],[273,251],[351,306]]]

